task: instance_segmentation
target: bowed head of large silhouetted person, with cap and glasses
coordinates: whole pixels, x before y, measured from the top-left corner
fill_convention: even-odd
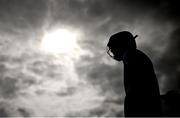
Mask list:
[[[118,32],[112,35],[107,44],[107,53],[117,61],[123,59],[123,55],[128,50],[136,49],[136,36],[128,31]]]

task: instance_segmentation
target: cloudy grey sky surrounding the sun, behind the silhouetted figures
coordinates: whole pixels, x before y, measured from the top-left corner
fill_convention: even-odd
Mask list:
[[[123,64],[106,44],[124,30],[138,35],[161,94],[180,90],[179,10],[176,0],[1,0],[0,116],[123,116]],[[43,50],[59,29],[76,46]]]

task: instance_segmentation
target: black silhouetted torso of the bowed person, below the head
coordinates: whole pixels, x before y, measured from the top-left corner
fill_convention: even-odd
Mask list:
[[[124,55],[125,116],[160,116],[159,86],[150,59],[141,51]]]

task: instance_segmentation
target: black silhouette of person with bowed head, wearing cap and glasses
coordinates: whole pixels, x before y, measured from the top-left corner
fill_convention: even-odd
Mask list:
[[[107,44],[108,54],[124,63],[125,116],[161,116],[158,81],[151,60],[136,49],[130,32],[112,35]]]

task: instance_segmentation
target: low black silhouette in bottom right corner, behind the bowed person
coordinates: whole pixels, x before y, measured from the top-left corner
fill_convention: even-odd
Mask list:
[[[179,117],[180,116],[180,93],[175,90],[168,91],[161,96],[163,116]]]

